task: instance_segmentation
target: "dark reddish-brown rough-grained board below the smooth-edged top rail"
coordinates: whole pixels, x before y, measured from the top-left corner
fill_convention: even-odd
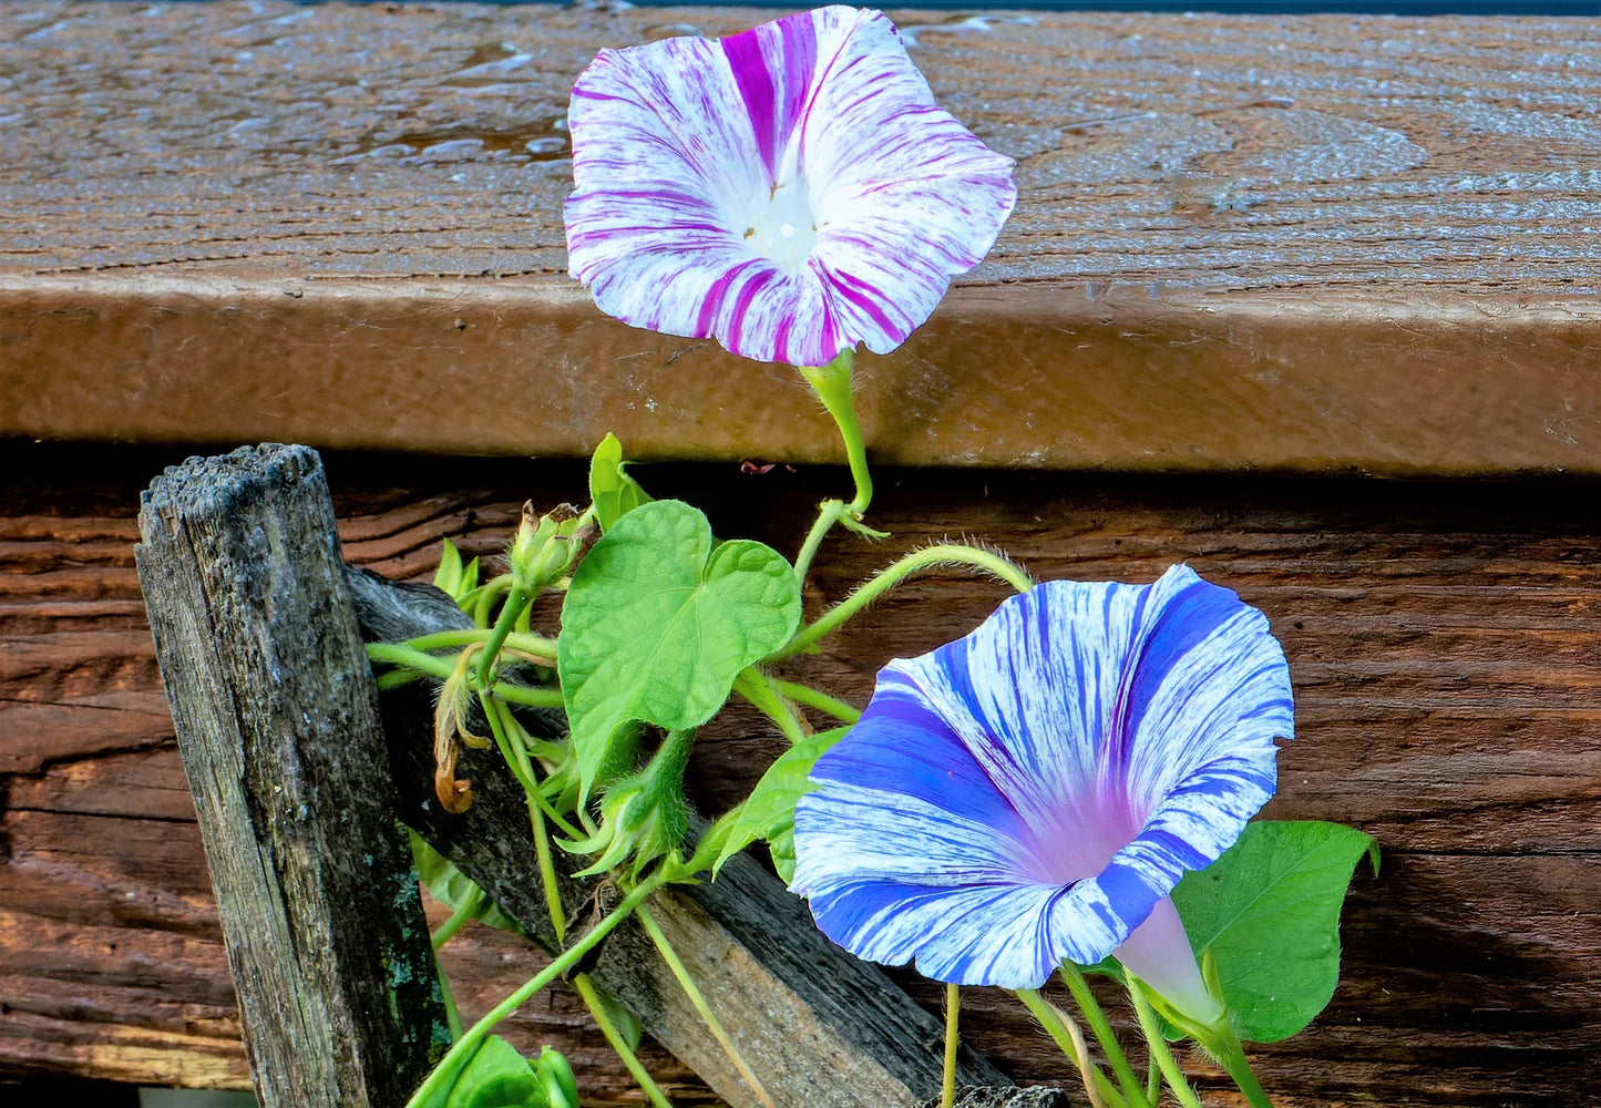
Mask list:
[[[138,600],[138,490],[171,458],[11,447],[0,503],[0,1071],[239,1087],[243,1054],[192,805]],[[493,556],[522,498],[578,496],[565,463],[328,460],[347,557],[426,576],[439,540]],[[24,477],[22,474],[34,474]],[[720,535],[791,549],[834,471],[647,466]],[[1575,495],[1575,488],[1580,495]],[[1382,874],[1345,913],[1345,977],[1305,1034],[1257,1047],[1281,1108],[1590,1105],[1601,982],[1601,512],[1588,484],[1150,480],[884,471],[882,548],[825,551],[810,610],[898,551],[994,540],[1041,576],[1151,580],[1186,560],[1263,607],[1295,680],[1279,818],[1374,833]],[[860,700],[874,669],[999,602],[913,581],[799,671]],[[696,746],[719,810],[781,741],[730,711]],[[448,962],[484,1010],[541,956],[469,929]],[[930,1007],[935,990],[898,974]],[[1023,1084],[1066,1082],[1021,1009],[972,990],[967,1034]],[[1116,1018],[1129,1023],[1126,1009]],[[570,1050],[596,1103],[628,1081],[554,991],[514,1023]],[[685,1103],[708,1094],[647,1055]],[[1209,1103],[1233,1103],[1190,1058]]]

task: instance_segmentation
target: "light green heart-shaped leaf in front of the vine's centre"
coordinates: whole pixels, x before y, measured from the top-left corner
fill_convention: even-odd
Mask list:
[[[778,551],[749,540],[714,546],[706,517],[676,500],[616,520],[562,604],[557,669],[581,799],[616,767],[629,724],[700,727],[738,672],[784,645],[799,621],[800,589]]]

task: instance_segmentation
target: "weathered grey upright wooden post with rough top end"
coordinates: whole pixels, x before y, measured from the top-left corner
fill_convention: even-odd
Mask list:
[[[264,1108],[399,1108],[450,1044],[322,461],[191,458],[139,583]]]

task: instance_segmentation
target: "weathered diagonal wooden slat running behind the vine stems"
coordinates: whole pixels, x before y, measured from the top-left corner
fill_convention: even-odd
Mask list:
[[[437,589],[351,573],[362,632],[400,642],[472,626]],[[399,815],[479,882],[549,951],[562,948],[535,863],[528,807],[498,751],[461,753],[456,773],[472,781],[472,807],[451,815],[434,785],[434,692],[386,693],[384,730]],[[536,733],[556,735],[549,713]],[[565,730],[562,724],[556,724]],[[575,927],[618,893],[604,877],[578,881],[588,858],[556,858],[560,897]],[[647,901],[690,978],[738,1034],[740,1054],[772,1108],[913,1108],[940,1090],[943,1028],[884,975],[844,954],[812,924],[804,905],[749,858],[732,858],[716,881],[664,889]],[[588,970],[735,1108],[762,1098],[746,1084],[637,921],[621,924]],[[962,1058],[962,1084],[1005,1086],[986,1060]]]

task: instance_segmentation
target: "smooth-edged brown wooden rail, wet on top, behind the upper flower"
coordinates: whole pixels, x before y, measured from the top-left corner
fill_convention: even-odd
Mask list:
[[[831,456],[794,375],[564,275],[573,77],[770,14],[5,10],[0,432]],[[863,359],[881,460],[1601,472],[1593,22],[900,19],[1020,199]]]

